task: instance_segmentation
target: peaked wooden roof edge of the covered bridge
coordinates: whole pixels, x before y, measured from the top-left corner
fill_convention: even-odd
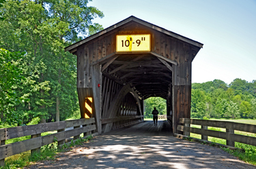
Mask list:
[[[157,26],[157,25],[152,24],[150,22],[146,22],[145,20],[141,20],[141,19],[136,18],[134,16],[130,16],[130,17],[128,17],[128,18],[118,22],[117,24],[113,24],[112,26],[109,26],[108,28],[106,28],[106,29],[104,29],[104,30],[94,34],[94,35],[91,35],[91,36],[89,36],[89,37],[87,37],[87,38],[85,38],[85,39],[83,39],[81,41],[78,41],[78,42],[76,42],[76,43],[66,47],[65,51],[69,51],[69,52],[72,53],[72,50],[74,50],[79,45],[82,45],[83,43],[87,43],[88,41],[96,39],[97,37],[100,37],[101,35],[104,35],[105,33],[113,31],[114,29],[117,29],[119,26],[122,26],[122,25],[127,24],[128,22],[132,22],[132,21],[137,22],[139,24],[142,24],[144,26],[147,26],[150,29],[154,29],[154,30],[159,31],[161,33],[165,33],[166,35],[169,35],[171,37],[175,37],[175,38],[180,39],[182,41],[186,41],[187,43],[195,45],[195,46],[197,46],[199,48],[203,48],[203,43],[200,43],[198,41],[194,41],[193,39],[189,39],[188,37],[184,37],[184,36],[179,35],[177,33],[173,33],[172,31],[168,31],[167,29],[163,29],[160,26]]]

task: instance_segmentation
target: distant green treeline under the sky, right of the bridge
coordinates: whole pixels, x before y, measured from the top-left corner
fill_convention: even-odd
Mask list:
[[[234,79],[229,85],[219,79],[193,83],[191,96],[191,117],[256,117],[256,80]]]

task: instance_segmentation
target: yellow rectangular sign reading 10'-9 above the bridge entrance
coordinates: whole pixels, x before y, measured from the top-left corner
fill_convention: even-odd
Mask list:
[[[150,34],[117,35],[117,52],[149,52]]]

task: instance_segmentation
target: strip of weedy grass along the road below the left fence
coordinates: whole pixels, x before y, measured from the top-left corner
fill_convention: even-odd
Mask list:
[[[0,169],[23,168],[41,160],[54,160],[59,152],[70,151],[71,147],[74,147],[75,145],[83,145],[83,143],[87,143],[91,139],[92,136],[88,136],[85,139],[80,137],[75,141],[71,140],[70,143],[64,144],[61,147],[57,147],[56,141],[55,143],[41,147],[40,153],[35,152],[31,155],[30,151],[26,151],[24,153],[12,155],[5,159],[5,167],[0,167]]]

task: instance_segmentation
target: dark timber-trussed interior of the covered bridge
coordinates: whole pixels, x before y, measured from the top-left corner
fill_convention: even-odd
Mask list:
[[[172,70],[175,62],[172,64],[154,54],[115,54],[100,64],[102,67],[102,102],[104,103],[102,104],[102,118],[137,116],[137,118],[122,122],[114,121],[112,125],[103,124],[104,132],[120,127],[125,122],[141,121],[143,117],[140,115],[144,113],[143,100],[147,98],[161,97],[171,103]],[[123,96],[124,98],[115,96],[120,88],[128,89],[124,92],[127,93]],[[110,98],[109,93],[111,93]],[[112,112],[108,112],[111,105],[117,102],[115,97],[123,100],[111,109]],[[171,104],[167,104],[167,109],[170,119]]]

